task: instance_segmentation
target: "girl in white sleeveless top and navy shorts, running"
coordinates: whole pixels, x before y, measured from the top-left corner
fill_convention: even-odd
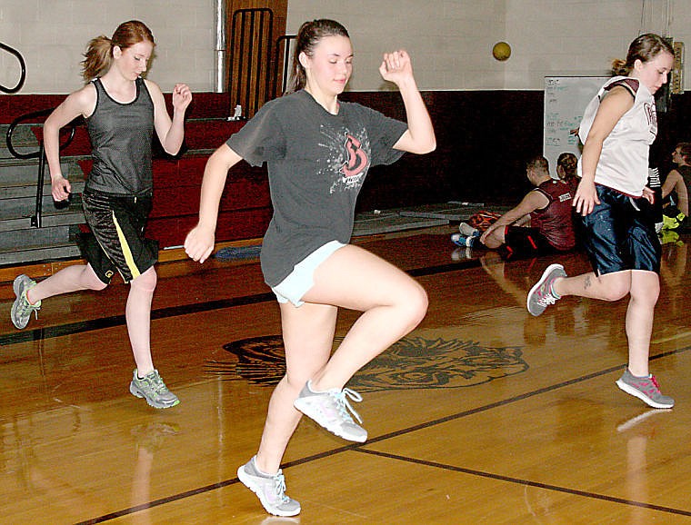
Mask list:
[[[528,312],[535,316],[566,295],[602,301],[628,295],[628,365],[616,385],[655,408],[671,408],[675,401],[648,370],[661,247],[646,183],[657,134],[653,95],[673,64],[671,45],[653,34],[638,36],[626,61],[612,64],[616,76],[587,105],[578,131],[584,145],[574,205],[593,272],[567,277],[561,264],[551,264],[527,295]]]

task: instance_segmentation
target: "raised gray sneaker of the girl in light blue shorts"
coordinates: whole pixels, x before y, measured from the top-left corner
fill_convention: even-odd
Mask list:
[[[307,381],[300,395],[293,402],[295,408],[315,420],[327,431],[335,433],[336,436],[360,443],[366,441],[367,431],[353,421],[348,411],[356,416],[357,421],[362,422],[362,420],[346,399],[347,396],[353,401],[362,401],[362,396],[348,388],[342,391],[331,389],[315,392],[310,388],[311,384],[312,381]]]

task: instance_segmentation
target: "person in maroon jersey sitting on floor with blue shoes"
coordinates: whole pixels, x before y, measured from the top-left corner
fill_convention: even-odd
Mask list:
[[[484,233],[461,223],[451,240],[458,246],[484,244],[506,250],[506,257],[566,252],[576,246],[572,214],[573,195],[568,184],[552,178],[549,163],[537,156],[526,163],[528,180],[536,188],[516,207],[504,213]]]

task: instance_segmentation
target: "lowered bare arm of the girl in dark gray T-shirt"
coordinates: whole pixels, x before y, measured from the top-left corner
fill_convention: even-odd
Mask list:
[[[199,200],[199,223],[185,238],[185,253],[199,263],[204,263],[214,251],[218,205],[225,187],[225,179],[228,170],[241,160],[240,155],[227,144],[223,144],[206,162]]]

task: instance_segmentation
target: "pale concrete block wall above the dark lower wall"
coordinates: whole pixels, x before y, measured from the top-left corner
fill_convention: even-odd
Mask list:
[[[451,91],[542,90],[546,75],[606,74],[640,32],[691,47],[691,0],[290,0],[287,31],[318,17],[350,31],[353,91],[390,89],[377,68],[382,53],[398,47],[413,56],[421,89]],[[150,79],[167,92],[175,82],[214,91],[215,0],[3,0],[0,41],[25,55],[21,93],[66,94],[81,85],[88,40],[132,18],[145,21],[157,41]],[[506,62],[491,54],[500,40],[513,49]],[[0,54],[0,82],[17,78],[15,59]]]

